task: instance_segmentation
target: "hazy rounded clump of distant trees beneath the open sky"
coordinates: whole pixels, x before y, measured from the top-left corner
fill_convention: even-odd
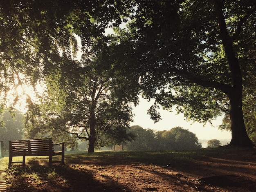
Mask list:
[[[135,135],[135,139],[128,142],[125,147],[126,150],[192,150],[202,148],[195,134],[182,127],[155,132],[152,129],[143,129],[136,125],[131,126],[130,132]]]

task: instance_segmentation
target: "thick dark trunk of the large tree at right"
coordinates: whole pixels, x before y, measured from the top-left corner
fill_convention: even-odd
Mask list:
[[[219,26],[219,34],[224,46],[227,61],[231,70],[232,86],[229,90],[225,90],[230,100],[230,119],[231,119],[231,132],[232,139],[230,145],[236,147],[252,147],[252,141],[250,141],[245,129],[245,122],[243,119],[242,110],[242,74],[238,58],[234,52],[233,44],[234,37],[229,36],[228,28],[223,13],[223,0],[211,0],[213,3],[216,18]]]

